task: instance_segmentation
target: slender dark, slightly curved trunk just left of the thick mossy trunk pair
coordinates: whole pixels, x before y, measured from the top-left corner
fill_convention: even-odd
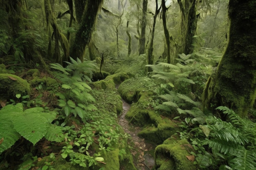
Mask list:
[[[163,25],[164,25],[164,36],[166,41],[166,49],[167,49],[167,63],[171,63],[171,41],[170,41],[170,34],[166,26],[166,6],[165,6],[165,0],[162,0],[162,19],[163,19]]]

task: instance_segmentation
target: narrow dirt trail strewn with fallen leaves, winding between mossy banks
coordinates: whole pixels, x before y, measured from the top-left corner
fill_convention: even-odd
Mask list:
[[[123,127],[124,131],[129,134],[135,144],[135,150],[132,151],[132,155],[137,157],[135,160],[135,166],[138,170],[151,170],[155,165],[154,155],[150,155],[148,151],[155,150],[155,146],[148,144],[143,138],[137,136],[138,132],[141,130],[139,126],[129,124],[128,120],[125,119],[125,115],[130,109],[130,104],[123,102],[123,112],[119,115],[119,124]]]

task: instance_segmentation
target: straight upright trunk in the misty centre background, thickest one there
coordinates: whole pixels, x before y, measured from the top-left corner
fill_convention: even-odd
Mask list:
[[[148,0],[143,0],[142,18],[141,18],[141,36],[139,37],[139,55],[145,53],[147,10],[148,10]]]

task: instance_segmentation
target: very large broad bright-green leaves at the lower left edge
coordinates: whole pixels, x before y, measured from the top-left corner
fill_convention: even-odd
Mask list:
[[[56,130],[51,124],[56,112],[43,110],[41,107],[35,107],[23,111],[21,103],[15,106],[7,105],[0,110],[0,134],[3,137],[0,154],[14,145],[21,136],[35,145],[45,137],[47,131],[50,131],[49,134],[61,133],[61,130]],[[58,138],[58,141],[60,140],[63,141],[63,138]]]

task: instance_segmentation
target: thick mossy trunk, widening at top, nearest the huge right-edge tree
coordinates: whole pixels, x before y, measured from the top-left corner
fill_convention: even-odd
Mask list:
[[[196,0],[177,0],[180,5],[181,18],[181,44],[178,53],[193,53],[194,36],[197,28]]]

